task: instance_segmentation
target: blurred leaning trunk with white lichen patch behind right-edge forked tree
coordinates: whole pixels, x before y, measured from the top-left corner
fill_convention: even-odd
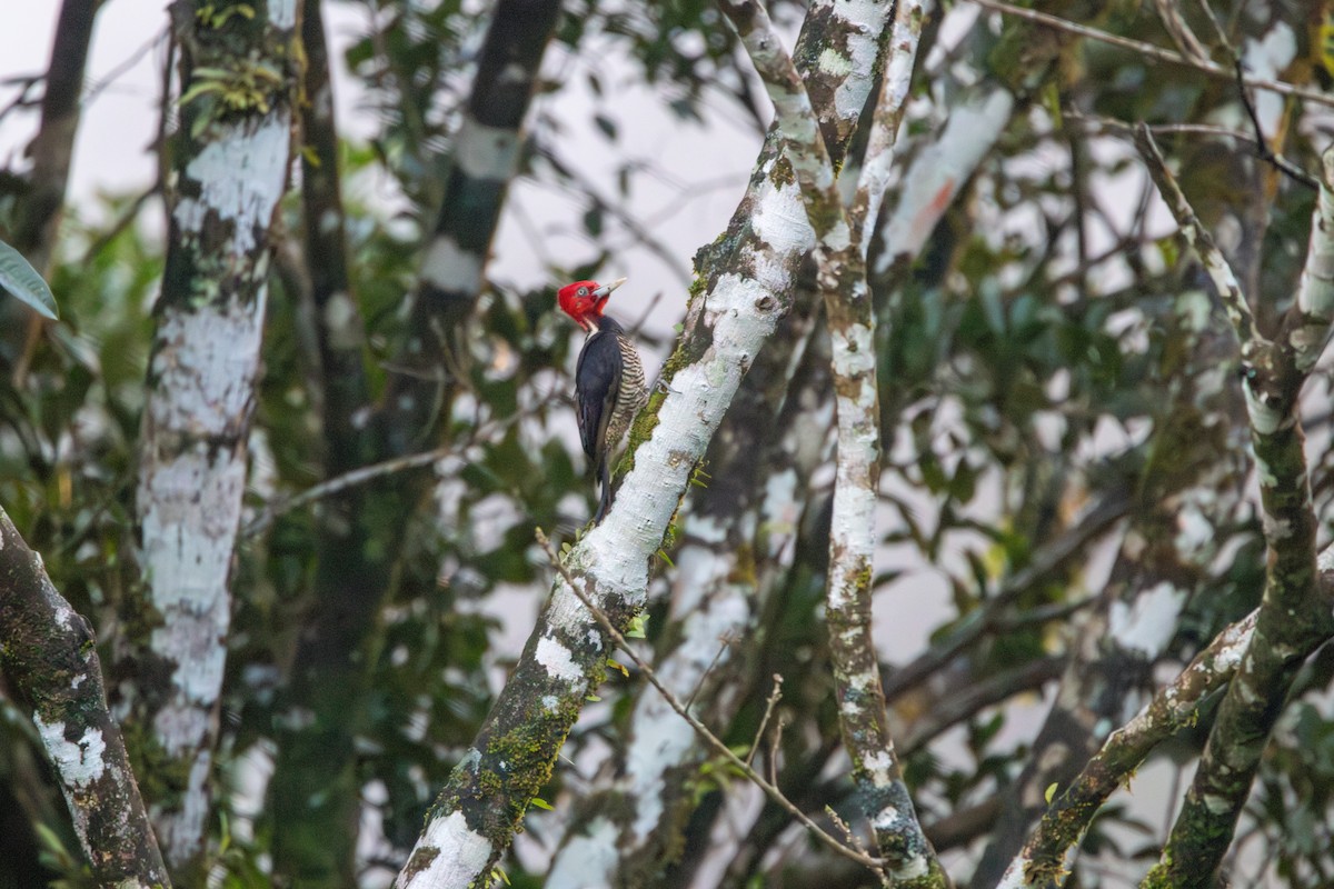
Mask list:
[[[1263,223],[1266,189],[1243,191],[1261,204],[1246,216]],[[1262,229],[1247,228],[1242,241],[1246,268],[1258,279],[1251,247],[1263,241]],[[1107,733],[1135,712],[1177,616],[1207,581],[1226,529],[1247,508],[1245,405],[1226,373],[1235,344],[1213,324],[1209,296],[1193,288],[1178,293],[1163,324],[1179,344],[1163,368],[1173,380],[1171,401],[1155,412],[1131,525],[1106,589],[1077,630],[1053,708],[974,872],[974,889],[995,885],[1046,809],[1047,788],[1067,786]]]

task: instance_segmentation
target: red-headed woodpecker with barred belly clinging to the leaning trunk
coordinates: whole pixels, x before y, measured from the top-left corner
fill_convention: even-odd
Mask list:
[[[624,283],[626,279],[611,284],[575,281],[556,292],[560,309],[588,335],[575,365],[575,411],[590,469],[596,470],[602,486],[594,524],[611,506],[611,450],[648,401],[639,352],[616,319],[603,315],[611,292]]]

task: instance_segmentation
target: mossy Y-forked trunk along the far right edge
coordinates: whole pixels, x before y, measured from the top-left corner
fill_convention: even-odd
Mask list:
[[[1226,259],[1203,229],[1149,131],[1137,144],[1169,209],[1218,288],[1242,344],[1246,407],[1261,486],[1269,557],[1255,632],[1219,706],[1199,768],[1146,886],[1206,886],[1237,825],[1269,734],[1302,661],[1334,634],[1330,596],[1317,585],[1315,514],[1303,453],[1298,395],[1329,336],[1334,289],[1334,147],[1325,152],[1321,197],[1297,304],[1279,336],[1262,337]]]

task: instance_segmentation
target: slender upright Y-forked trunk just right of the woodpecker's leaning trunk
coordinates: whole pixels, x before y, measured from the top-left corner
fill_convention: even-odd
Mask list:
[[[764,8],[722,0],[774,100],[776,127],[816,237],[816,285],[824,296],[832,341],[838,415],[838,472],[830,533],[826,616],[839,698],[843,742],[852,780],[895,884],[947,882],[922,834],[894,753],[871,640],[871,557],[879,477],[879,411],[875,388],[874,313],[866,280],[863,235],[875,216],[888,173],[912,59],[926,19],[918,3],[900,3],[890,39],[891,56],[871,121],[867,156],[851,213],[844,213],[834,169],[814,121],[810,99],[782,48]]]

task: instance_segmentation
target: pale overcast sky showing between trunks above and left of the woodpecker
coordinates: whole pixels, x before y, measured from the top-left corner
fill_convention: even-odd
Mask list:
[[[59,0],[16,3],[7,9],[7,25],[0,29],[0,81],[16,76],[40,73],[51,53]],[[88,64],[85,93],[89,97],[80,125],[75,151],[71,196],[84,203],[99,189],[117,192],[143,188],[153,175],[155,159],[145,148],[157,127],[157,95],[160,71],[164,61],[163,43],[159,40],[167,25],[167,0],[108,0],[97,17],[92,53]],[[352,35],[364,28],[364,11],[356,4],[328,4],[331,39],[346,45]],[[594,40],[598,40],[594,37]],[[156,43],[155,43],[156,41]],[[338,104],[339,125],[344,133],[366,136],[374,121],[368,113],[356,111],[355,85],[342,71],[339,61]],[[582,84],[578,60],[555,57],[548,61]],[[606,55],[591,56],[599,64],[615,65]],[[620,125],[622,156],[655,164],[663,176],[639,176],[632,195],[635,213],[647,220],[647,227],[667,245],[675,261],[668,267],[663,259],[643,248],[627,247],[612,263],[608,275],[627,275],[623,296],[630,320],[638,317],[632,301],[647,301],[664,292],[666,324],[679,317],[684,301],[686,276],[690,257],[712,241],[726,227],[746,183],[754,161],[758,139],[740,124],[740,113],[722,101],[712,104],[718,123],[710,129],[683,125],[666,112],[666,100],[651,89],[635,84],[632,72],[624,77],[608,77],[608,83],[622,87],[610,101],[610,116]],[[12,87],[0,87],[0,107],[13,96]],[[592,104],[582,87],[564,91],[551,108],[566,127],[563,149],[566,160],[598,183],[607,199],[616,197],[615,155],[598,136],[592,125]],[[604,105],[604,111],[607,107]],[[728,117],[736,120],[727,120]],[[588,125],[582,125],[586,121]],[[36,128],[36,113],[13,113],[0,121],[0,163],[21,157],[24,147]],[[379,189],[380,197],[392,201],[392,195]],[[531,287],[543,276],[543,260],[566,264],[584,261],[592,256],[591,244],[571,235],[548,231],[554,224],[578,224],[586,207],[572,203],[551,188],[524,183],[511,192],[507,217],[496,239],[496,259],[492,277],[502,284]],[[516,213],[526,219],[519,224]],[[608,220],[608,229],[616,224]],[[546,236],[534,241],[532,233]],[[614,237],[612,243],[627,244],[628,236]],[[667,320],[667,316],[676,316]]]

